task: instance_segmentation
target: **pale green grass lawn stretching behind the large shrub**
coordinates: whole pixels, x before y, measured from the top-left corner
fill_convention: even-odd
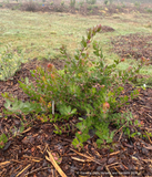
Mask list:
[[[114,59],[119,59],[119,55],[110,52],[112,37],[152,32],[151,28],[143,25],[148,22],[148,18],[151,19],[149,14],[146,19],[140,13],[116,15],[119,18],[115,19],[114,15],[103,18],[1,10],[0,48],[10,43],[14,50],[23,49],[27,59],[59,59],[62,44],[70,49],[70,54],[73,54],[87,29],[101,23],[115,29],[114,32],[100,33],[95,37],[102,45],[107,61],[111,63]],[[131,20],[126,22],[129,19]]]

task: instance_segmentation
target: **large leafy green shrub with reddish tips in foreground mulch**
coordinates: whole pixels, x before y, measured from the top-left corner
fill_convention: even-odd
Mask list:
[[[109,124],[119,125],[122,123],[121,118],[123,123],[130,124],[130,118],[116,116],[115,112],[126,104],[129,98],[138,96],[138,90],[132,91],[130,96],[123,95],[122,92],[124,84],[139,73],[143,62],[126,71],[118,70],[123,59],[114,60],[110,65],[105,64],[101,46],[97,41],[92,41],[100,30],[101,24],[87,32],[87,37],[82,38],[81,49],[75,51],[73,58],[69,58],[65,46],[61,48],[61,53],[67,58],[64,70],[58,71],[49,63],[48,70],[38,66],[31,71],[36,85],[28,79],[24,82],[19,81],[20,87],[31,97],[31,102],[20,104],[17,98],[3,94],[7,97],[6,108],[19,114],[45,114],[51,122],[52,118],[69,119],[77,114],[79,123],[75,126],[79,132],[72,143],[74,147],[83,147],[83,143],[90,138],[91,129],[99,137],[99,146],[102,143],[111,143],[114,131],[110,132]],[[91,43],[93,58],[88,52]]]

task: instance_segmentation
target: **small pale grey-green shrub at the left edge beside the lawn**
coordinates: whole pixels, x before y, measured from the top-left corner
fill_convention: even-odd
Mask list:
[[[22,56],[19,56],[17,52],[12,52],[10,46],[7,46],[0,53],[0,80],[6,81],[12,77],[20,70],[22,62]]]

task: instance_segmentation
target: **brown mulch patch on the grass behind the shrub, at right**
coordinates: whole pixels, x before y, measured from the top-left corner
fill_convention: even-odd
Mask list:
[[[112,51],[121,58],[149,58],[152,63],[152,34],[132,33],[111,39]]]

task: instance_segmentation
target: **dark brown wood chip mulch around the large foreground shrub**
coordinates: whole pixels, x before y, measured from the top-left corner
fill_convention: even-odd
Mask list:
[[[2,92],[13,93],[21,100],[28,97],[19,88],[18,80],[30,76],[30,70],[36,62],[22,65],[13,80],[0,82]],[[125,93],[131,92],[130,85]],[[0,97],[2,111],[4,101]],[[84,144],[80,152],[71,145],[74,138],[77,117],[70,118],[71,129],[57,135],[54,124],[41,123],[30,117],[4,116],[0,118],[0,134],[9,135],[8,143],[0,149],[1,177],[75,177],[75,176],[152,176],[152,88],[141,90],[140,96],[130,102],[130,105],[120,108],[124,113],[130,110],[140,123],[138,132],[146,137],[128,138],[122,128],[115,132],[113,143],[95,145],[95,135]],[[24,131],[19,133],[24,123]],[[67,125],[68,122],[57,123]],[[32,125],[32,126],[29,126]],[[112,128],[112,127],[110,127]]]

